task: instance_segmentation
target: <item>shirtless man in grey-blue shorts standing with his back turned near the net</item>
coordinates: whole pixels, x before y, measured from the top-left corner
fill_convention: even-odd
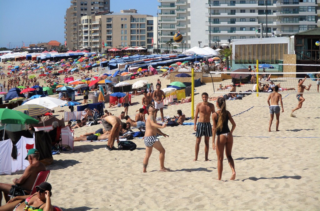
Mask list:
[[[274,92],[271,93],[268,97],[268,105],[269,105],[269,109],[270,109],[269,132],[271,132],[271,124],[272,124],[273,117],[275,114],[276,114],[276,131],[279,131],[278,130],[279,117],[280,117],[279,101],[281,104],[282,113],[284,112],[283,104],[282,104],[282,96],[281,96],[281,94],[278,93],[278,90],[279,90],[279,87],[275,86]],[[271,100],[271,104],[270,104],[270,100]]]

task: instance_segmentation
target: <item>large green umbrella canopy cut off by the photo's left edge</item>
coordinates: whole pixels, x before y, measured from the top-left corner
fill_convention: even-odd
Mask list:
[[[0,109],[0,121],[2,124],[37,124],[38,120],[12,109]]]

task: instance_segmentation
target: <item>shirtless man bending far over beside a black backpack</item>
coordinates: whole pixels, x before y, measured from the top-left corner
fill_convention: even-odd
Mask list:
[[[117,143],[119,142],[119,132],[121,130],[121,120],[116,116],[107,116],[102,119],[102,125],[106,131],[110,131],[110,136],[108,139],[108,144],[106,149],[115,150],[116,147],[113,146],[115,139]]]

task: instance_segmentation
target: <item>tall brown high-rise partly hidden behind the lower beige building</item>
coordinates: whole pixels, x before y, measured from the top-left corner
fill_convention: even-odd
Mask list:
[[[82,16],[109,10],[110,0],[71,0],[71,6],[64,16],[64,38],[67,41],[67,49],[78,49],[78,24]]]

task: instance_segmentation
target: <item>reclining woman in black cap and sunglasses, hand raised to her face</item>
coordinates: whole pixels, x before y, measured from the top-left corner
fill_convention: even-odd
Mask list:
[[[13,210],[13,211],[32,211],[36,209],[42,209],[44,211],[53,211],[50,196],[51,185],[47,182],[43,182],[36,186],[37,192],[33,195],[16,196],[7,204],[1,207],[1,210]]]

